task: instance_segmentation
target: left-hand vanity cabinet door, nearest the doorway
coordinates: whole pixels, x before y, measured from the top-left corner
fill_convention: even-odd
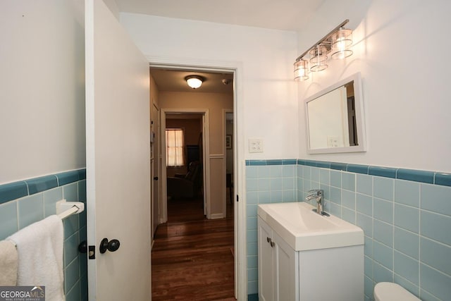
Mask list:
[[[259,300],[274,300],[273,231],[259,218]]]

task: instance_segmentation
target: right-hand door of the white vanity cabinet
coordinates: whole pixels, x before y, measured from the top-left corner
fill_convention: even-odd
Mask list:
[[[275,290],[278,301],[299,300],[299,257],[295,250],[277,233],[273,233],[273,252],[275,252]]]

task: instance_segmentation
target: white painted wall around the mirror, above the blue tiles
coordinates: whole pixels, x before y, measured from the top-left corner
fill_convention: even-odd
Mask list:
[[[351,27],[354,55],[298,84],[299,158],[450,172],[451,41],[444,35],[451,27],[451,2],[365,2]],[[345,18],[345,12],[337,17],[329,10],[316,21],[337,21],[328,23],[331,29]],[[315,25],[299,32],[299,51],[311,46],[306,42],[311,35],[320,39],[328,32]],[[357,71],[362,73],[368,152],[308,155],[303,100]]]

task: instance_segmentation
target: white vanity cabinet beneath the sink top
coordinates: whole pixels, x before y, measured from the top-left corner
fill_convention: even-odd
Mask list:
[[[261,216],[258,240],[259,300],[364,300],[363,243],[295,250]]]

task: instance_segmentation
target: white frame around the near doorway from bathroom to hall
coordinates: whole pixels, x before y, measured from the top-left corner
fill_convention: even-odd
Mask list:
[[[168,68],[186,68],[206,71],[226,71],[233,73],[233,191],[235,200],[240,196],[240,202],[234,205],[234,235],[235,235],[235,297],[237,300],[247,300],[247,226],[245,202],[245,134],[241,125],[245,124],[244,99],[242,90],[243,66],[240,61],[218,61],[192,58],[174,58],[149,56],[144,54],[150,66]],[[240,147],[238,147],[240,146]],[[162,170],[164,168],[161,168]],[[166,188],[162,188],[166,190]]]

